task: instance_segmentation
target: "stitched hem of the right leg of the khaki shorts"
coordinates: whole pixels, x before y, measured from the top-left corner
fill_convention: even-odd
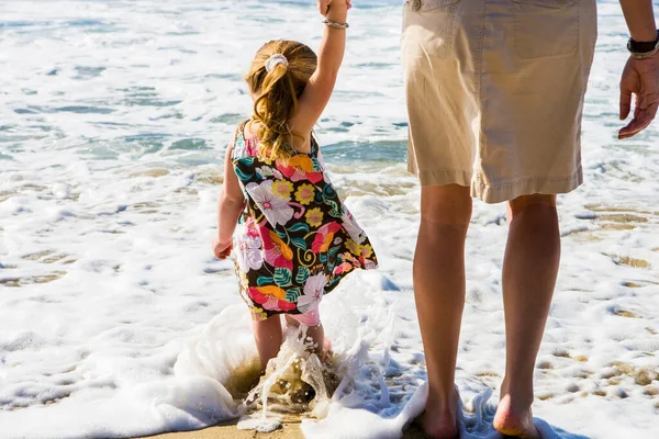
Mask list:
[[[495,185],[474,182],[471,185],[471,196],[494,204],[535,193],[546,195],[568,193],[582,183],[583,170],[579,167],[574,173],[568,177],[530,177]]]

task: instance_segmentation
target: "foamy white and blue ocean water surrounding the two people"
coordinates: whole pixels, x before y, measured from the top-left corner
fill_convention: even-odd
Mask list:
[[[0,1],[0,437],[130,437],[237,415],[255,358],[210,238],[253,54],[317,48],[310,1]],[[355,1],[319,137],[381,260],[321,312],[349,380],[310,438],[400,437],[423,409],[412,294],[420,189],[405,172],[400,1]],[[585,184],[560,198],[563,258],[537,361],[545,437],[659,437],[659,124],[616,140],[626,29],[600,2]],[[457,385],[465,437],[504,370],[503,205],[477,202]],[[440,335],[438,335],[440,336]]]

